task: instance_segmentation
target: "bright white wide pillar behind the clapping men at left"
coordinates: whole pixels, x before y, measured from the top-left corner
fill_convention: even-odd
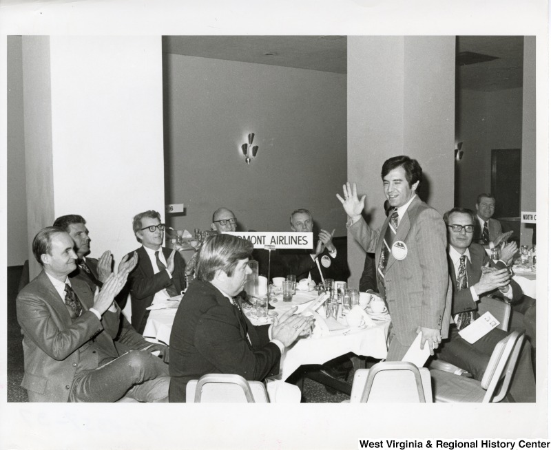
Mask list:
[[[164,210],[160,36],[25,36],[23,79],[30,239],[81,214],[91,255],[120,259],[132,217]]]

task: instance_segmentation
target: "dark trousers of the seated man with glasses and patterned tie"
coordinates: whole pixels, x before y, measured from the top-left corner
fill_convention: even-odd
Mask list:
[[[457,327],[451,325],[450,337],[443,341],[443,345],[437,352],[437,357],[467,370],[473,378],[480,381],[488,367],[495,345],[508,334],[508,332],[494,328],[474,344],[470,344],[459,336]],[[532,369],[531,350],[530,342],[525,339],[509,388],[510,396],[515,402],[536,401],[536,380]]]

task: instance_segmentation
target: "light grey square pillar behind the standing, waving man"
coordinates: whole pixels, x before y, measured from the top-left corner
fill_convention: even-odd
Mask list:
[[[368,223],[379,228],[387,158],[406,154],[426,178],[420,197],[440,213],[453,206],[455,38],[349,36],[348,178],[366,195]],[[349,239],[349,284],[365,253]]]

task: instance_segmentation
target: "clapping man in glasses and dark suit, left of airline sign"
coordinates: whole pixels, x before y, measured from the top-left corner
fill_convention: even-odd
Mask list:
[[[138,265],[128,277],[132,298],[132,325],[143,334],[149,306],[166,301],[185,289],[185,262],[176,250],[163,247],[165,224],[157,211],[134,216],[134,235],[142,246],[136,250]]]

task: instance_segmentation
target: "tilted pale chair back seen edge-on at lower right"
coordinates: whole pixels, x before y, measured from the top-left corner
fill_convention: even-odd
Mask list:
[[[514,331],[505,338],[501,339],[494,348],[490,362],[486,367],[486,372],[480,382],[483,389],[486,389],[486,395],[482,403],[500,402],[506,396],[511,383],[514,366],[517,365],[524,336],[518,331]],[[503,379],[499,393],[494,396],[497,385]]]

